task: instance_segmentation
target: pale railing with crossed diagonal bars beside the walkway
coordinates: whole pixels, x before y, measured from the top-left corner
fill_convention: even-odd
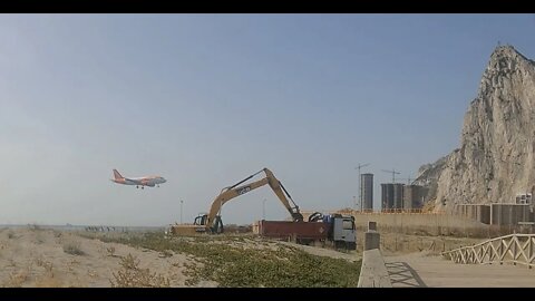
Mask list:
[[[535,234],[510,234],[475,245],[461,246],[442,252],[442,256],[455,263],[484,264],[512,262],[532,269],[535,265]]]

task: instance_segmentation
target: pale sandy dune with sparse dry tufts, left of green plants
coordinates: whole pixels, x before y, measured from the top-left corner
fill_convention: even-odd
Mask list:
[[[168,279],[171,287],[185,287],[184,264],[191,262],[187,255],[163,256],[150,250],[40,229],[0,230],[0,285],[111,287],[114,273],[128,254],[139,260],[139,268]]]

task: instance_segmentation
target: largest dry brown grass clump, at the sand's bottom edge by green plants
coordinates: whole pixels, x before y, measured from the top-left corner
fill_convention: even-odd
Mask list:
[[[149,269],[140,269],[139,260],[132,254],[120,261],[123,270],[113,273],[113,288],[169,288],[169,280],[160,274],[150,273]]]

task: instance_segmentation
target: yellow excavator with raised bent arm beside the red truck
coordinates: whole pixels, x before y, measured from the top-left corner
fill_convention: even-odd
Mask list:
[[[246,181],[253,178],[257,174],[264,172],[265,177],[253,182],[251,184],[245,184]],[[262,171],[240,181],[239,183],[225,187],[222,190],[220,195],[215,197],[212,202],[212,206],[210,207],[210,212],[207,214],[202,214],[195,217],[195,221],[192,224],[175,224],[171,226],[172,234],[175,235],[192,235],[197,233],[212,233],[212,234],[220,234],[223,233],[223,222],[221,220],[220,211],[221,207],[232,198],[243,195],[247,192],[262,187],[264,185],[270,185],[273,190],[275,195],[282,202],[284,207],[288,210],[290,215],[292,216],[294,222],[302,222],[303,215],[299,211],[299,206],[293,202],[292,196],[288,193],[284,188],[282,183],[273,175],[273,173],[268,169],[263,168]],[[289,200],[291,201],[292,205],[290,204]]]

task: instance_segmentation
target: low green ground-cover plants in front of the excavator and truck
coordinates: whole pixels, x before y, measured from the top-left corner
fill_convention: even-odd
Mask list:
[[[148,233],[103,240],[158,252],[172,250],[194,255],[195,263],[186,264],[188,285],[212,280],[220,287],[357,287],[361,264],[360,261],[317,256],[285,245],[273,250],[263,242],[249,239],[245,241],[250,244],[263,247],[246,247],[242,243],[243,237],[202,236],[187,241],[184,237],[169,240],[159,233]]]

